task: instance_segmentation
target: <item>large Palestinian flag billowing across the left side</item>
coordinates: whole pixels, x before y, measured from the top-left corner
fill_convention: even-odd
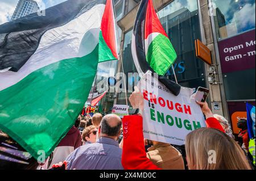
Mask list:
[[[0,129],[34,158],[71,129],[98,61],[117,58],[110,12],[111,0],[69,0],[0,26]]]

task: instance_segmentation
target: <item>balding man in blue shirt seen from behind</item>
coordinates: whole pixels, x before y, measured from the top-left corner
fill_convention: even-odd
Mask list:
[[[98,129],[97,142],[80,146],[68,158],[68,170],[122,170],[122,150],[117,139],[122,120],[117,115],[106,115]]]

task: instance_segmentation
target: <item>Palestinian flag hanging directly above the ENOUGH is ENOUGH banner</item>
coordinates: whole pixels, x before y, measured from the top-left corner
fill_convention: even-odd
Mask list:
[[[131,51],[138,73],[148,70],[158,73],[159,81],[164,83],[175,95],[180,86],[162,75],[174,64],[177,54],[152,5],[152,0],[142,0],[135,20]]]

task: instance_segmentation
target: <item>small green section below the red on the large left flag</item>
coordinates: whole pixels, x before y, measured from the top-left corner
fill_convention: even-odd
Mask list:
[[[106,44],[104,37],[102,36],[102,31],[100,31],[100,39],[99,39],[99,61],[98,62],[105,62],[109,60],[117,60],[113,56],[111,49]]]

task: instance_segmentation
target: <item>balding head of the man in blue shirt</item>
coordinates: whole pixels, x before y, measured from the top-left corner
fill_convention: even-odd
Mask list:
[[[117,115],[106,115],[101,121],[101,134],[107,136],[118,136],[121,131],[122,120]]]

